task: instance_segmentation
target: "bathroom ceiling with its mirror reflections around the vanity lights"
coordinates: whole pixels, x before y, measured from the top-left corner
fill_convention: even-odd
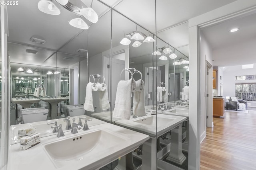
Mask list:
[[[81,1],[85,6],[90,6],[91,1]],[[101,1],[110,7],[114,7],[114,10],[122,13],[130,20],[138,23],[138,31],[142,31],[146,35],[148,34],[146,29],[149,29],[152,33],[157,32],[157,36],[160,39],[188,56],[188,22],[184,21],[235,0],[157,0],[156,12],[154,7],[155,0]],[[92,4],[92,8],[99,16],[99,21],[96,24],[92,24],[83,18],[90,26],[88,30],[81,30],[69,25],[68,21],[79,16],[64,9],[54,0],[54,4],[61,11],[61,14],[58,16],[40,12],[37,6],[38,2],[39,0],[22,0],[19,1],[18,6],[8,8],[8,42],[12,42],[12,44],[8,44],[8,51],[12,63],[56,66],[56,54],[54,52],[58,51],[61,52],[57,54],[59,56],[57,57],[58,67],[67,68],[70,64],[84,60],[84,57],[87,56],[86,53],[76,52],[79,48],[88,50],[89,57],[110,49],[111,11],[110,8],[100,1],[94,0]],[[78,0],[70,0],[70,2],[76,4],[79,2],[77,5],[80,8],[82,6],[82,2]],[[127,18],[115,11],[113,12],[112,47],[120,45],[119,42],[123,37],[123,31],[130,33],[136,30],[136,23]],[[46,43],[44,45],[37,45],[29,41],[30,37],[45,39]],[[167,46],[166,43],[158,40],[157,46]],[[38,51],[38,54],[28,56],[24,52],[26,49],[34,49]],[[45,51],[42,49],[45,49]],[[141,57],[147,56],[152,51],[153,48],[150,43],[143,43],[141,47],[136,49],[130,47],[131,60],[145,63],[145,60]],[[183,56],[182,54],[179,55]],[[64,57],[72,57],[74,60],[67,61],[63,59]],[[82,58],[80,59],[80,57]],[[136,57],[138,59],[135,59]]]

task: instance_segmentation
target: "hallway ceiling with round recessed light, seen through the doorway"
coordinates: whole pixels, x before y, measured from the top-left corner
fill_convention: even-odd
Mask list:
[[[236,32],[229,32],[239,28]],[[212,47],[214,66],[256,63],[256,14],[225,21],[202,30]]]

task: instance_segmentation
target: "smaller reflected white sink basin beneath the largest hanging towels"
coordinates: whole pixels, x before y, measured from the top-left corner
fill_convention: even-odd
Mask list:
[[[145,125],[151,125],[156,127],[156,123],[163,123],[163,124],[167,124],[170,123],[171,121],[173,121],[174,119],[166,119],[166,118],[162,118],[162,117],[157,117],[156,116],[150,116],[150,117],[146,117],[146,118],[142,118],[139,120],[134,120],[134,122],[138,122],[138,123],[142,123]]]

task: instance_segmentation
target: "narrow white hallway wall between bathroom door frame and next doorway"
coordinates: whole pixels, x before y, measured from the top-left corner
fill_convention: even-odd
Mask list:
[[[208,43],[204,34],[200,34],[200,138],[201,142],[206,137],[206,65],[205,62],[212,64],[212,47]],[[212,77],[212,72],[209,72],[209,76]],[[212,89],[212,84],[210,84]],[[212,98],[212,94],[209,94],[209,98]],[[209,108],[212,110],[212,107]]]

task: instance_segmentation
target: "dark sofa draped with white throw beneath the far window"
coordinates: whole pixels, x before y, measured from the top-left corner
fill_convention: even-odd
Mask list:
[[[238,100],[236,97],[230,97],[226,102],[226,109],[242,109],[247,110],[247,102],[244,100]]]

